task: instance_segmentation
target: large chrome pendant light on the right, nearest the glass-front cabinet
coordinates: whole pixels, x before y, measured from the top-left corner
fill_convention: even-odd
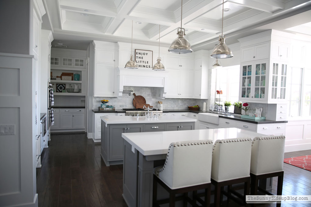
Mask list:
[[[219,35],[218,41],[220,42],[216,47],[214,47],[211,57],[213,58],[230,58],[233,54],[230,48],[225,44],[225,35],[222,34],[224,27],[224,0],[222,0],[222,25],[221,25],[221,35]]]

